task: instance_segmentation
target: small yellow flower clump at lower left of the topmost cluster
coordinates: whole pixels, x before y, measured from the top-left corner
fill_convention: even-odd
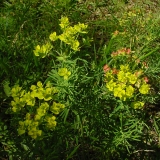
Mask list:
[[[42,58],[46,57],[46,55],[50,52],[52,49],[52,45],[50,43],[46,43],[45,45],[37,45],[34,49],[35,56],[40,56]]]

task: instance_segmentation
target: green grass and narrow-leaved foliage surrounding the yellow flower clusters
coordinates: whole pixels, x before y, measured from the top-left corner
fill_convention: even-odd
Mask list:
[[[0,4],[0,159],[160,159],[159,9],[156,0],[3,0]],[[71,26],[79,22],[88,25],[87,34],[76,37],[80,51],[74,52],[57,40],[50,42],[53,49],[45,58],[35,56],[35,47],[46,44],[51,33],[62,34],[59,26],[62,16],[68,17]],[[131,53],[111,56],[124,48]],[[103,71],[106,64],[116,69],[116,74],[120,65],[126,64],[132,73],[141,70],[139,80],[147,77],[149,93],[140,94],[132,84],[133,97],[126,101],[116,97],[106,87],[109,83]],[[68,80],[59,74],[60,68],[71,72]],[[65,104],[65,108],[54,114],[57,121],[54,130],[48,130],[42,118],[40,129],[44,134],[33,139],[27,133],[18,135],[17,128],[26,113],[34,120],[44,100],[36,98],[33,107],[28,104],[14,113],[11,89],[19,84],[27,92],[38,81],[43,84],[50,81],[59,90],[47,101],[49,106],[57,102]],[[135,101],[145,105],[134,109]]]

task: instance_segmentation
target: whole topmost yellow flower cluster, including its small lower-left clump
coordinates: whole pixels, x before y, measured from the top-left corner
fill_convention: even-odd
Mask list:
[[[87,33],[85,30],[87,29],[87,25],[84,23],[78,23],[74,25],[73,27],[70,26],[69,20],[67,17],[62,17],[60,19],[60,27],[63,31],[61,35],[57,35],[56,32],[53,32],[50,34],[49,39],[51,41],[56,41],[57,39],[60,39],[62,42],[68,44],[71,49],[74,51],[79,50],[79,41],[77,40],[79,33]],[[46,43],[45,45],[37,45],[35,47],[35,50],[33,51],[35,56],[40,56],[44,58],[52,49],[52,45],[50,43]]]

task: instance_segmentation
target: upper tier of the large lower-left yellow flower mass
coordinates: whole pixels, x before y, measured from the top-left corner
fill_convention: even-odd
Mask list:
[[[18,85],[12,88],[11,96],[13,97],[13,101],[11,101],[11,106],[13,112],[20,111],[25,105],[34,106],[36,98],[49,101],[58,92],[55,87],[51,87],[49,82],[45,87],[43,87],[41,82],[38,82],[37,86],[32,85],[30,89],[31,91],[26,92]]]

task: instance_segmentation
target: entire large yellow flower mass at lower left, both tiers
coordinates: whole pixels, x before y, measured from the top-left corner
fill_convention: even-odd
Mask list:
[[[52,105],[48,104],[49,100],[53,99],[53,95],[58,93],[55,87],[52,87],[48,82],[45,87],[39,81],[37,85],[32,85],[30,91],[22,90],[18,85],[14,86],[11,90],[13,101],[11,102],[12,111],[20,113],[29,112],[25,116],[24,121],[19,121],[18,134],[22,135],[28,133],[29,136],[36,139],[42,135],[42,130],[39,128],[46,127],[53,130],[56,126],[56,117],[65,107],[64,104],[53,102]],[[36,101],[39,100],[39,105]],[[30,109],[28,109],[30,107]]]

